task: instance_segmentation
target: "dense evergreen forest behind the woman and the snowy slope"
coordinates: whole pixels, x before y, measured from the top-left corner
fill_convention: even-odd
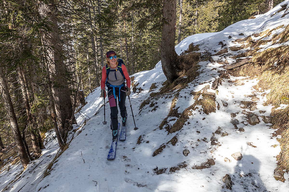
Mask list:
[[[274,5],[270,5],[272,2]],[[175,44],[196,33],[221,31],[240,20],[263,14],[281,2],[178,0]],[[68,106],[72,107],[68,108],[74,111],[84,96],[100,85],[107,51],[116,51],[129,75],[153,69],[161,59],[165,22],[162,1],[1,0],[0,10],[0,75],[6,81],[6,96],[10,96],[10,107],[15,112],[14,123],[11,123],[13,115],[7,112],[9,98],[6,103],[3,96],[5,83],[0,82],[3,88],[0,150],[14,146],[17,124],[24,144],[26,140],[29,140],[28,145],[32,143],[32,147],[25,144],[30,160],[40,155],[39,149],[44,147],[41,136],[43,138],[47,130],[57,124],[60,127],[61,123],[63,127],[65,123],[70,127],[74,121],[74,117],[58,119],[57,101],[54,98],[55,103],[52,102],[51,93],[69,96],[71,104]],[[54,47],[45,47],[45,38],[49,39],[55,31],[58,36]],[[49,67],[50,49],[54,51],[54,59],[63,60],[62,76],[55,74],[57,78],[64,78],[63,81],[53,81],[50,74],[53,73]],[[64,81],[65,94],[55,89]],[[69,110],[65,113],[71,113]],[[59,130],[60,147],[64,147],[61,145],[65,143],[67,130],[69,128]],[[36,140],[38,147],[34,146]],[[34,156],[29,154],[29,148]]]

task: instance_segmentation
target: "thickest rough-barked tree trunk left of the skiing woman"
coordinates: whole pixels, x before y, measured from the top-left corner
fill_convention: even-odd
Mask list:
[[[56,119],[60,135],[66,142],[70,127],[70,119],[73,115],[70,91],[65,74],[65,67],[62,58],[62,50],[60,47],[60,39],[58,32],[58,24],[56,18],[56,7],[54,2],[49,2],[49,5],[39,2],[38,12],[40,18],[49,20],[51,31],[40,30],[41,42],[44,47],[47,68],[49,70],[49,79],[51,81],[51,91],[53,103],[55,107]]]

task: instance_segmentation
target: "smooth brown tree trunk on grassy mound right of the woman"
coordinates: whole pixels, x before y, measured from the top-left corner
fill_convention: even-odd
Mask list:
[[[163,19],[166,21],[163,24],[162,30],[162,69],[169,83],[172,83],[179,77],[177,74],[177,53],[175,52],[175,23],[176,23],[176,7],[177,1],[164,0]]]

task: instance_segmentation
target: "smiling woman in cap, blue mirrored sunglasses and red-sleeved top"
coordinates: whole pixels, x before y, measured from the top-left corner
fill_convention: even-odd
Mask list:
[[[110,129],[112,130],[112,139],[117,139],[118,130],[118,107],[121,111],[122,124],[125,126],[127,111],[125,107],[125,98],[130,95],[130,78],[123,60],[118,59],[114,51],[106,53],[107,64],[103,66],[101,75],[101,96],[105,97],[105,85],[108,88],[108,101],[110,104]],[[125,80],[127,86],[125,86]],[[118,99],[117,99],[118,98]]]

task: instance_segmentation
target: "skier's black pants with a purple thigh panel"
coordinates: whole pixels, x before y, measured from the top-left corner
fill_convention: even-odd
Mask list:
[[[127,112],[126,112],[126,107],[125,107],[125,86],[119,88],[114,88],[115,89],[115,95],[116,99],[114,98],[113,95],[113,87],[108,87],[108,101],[110,105],[110,129],[111,130],[117,130],[118,128],[118,120],[117,120],[117,115],[118,115],[118,109],[116,106],[116,101],[118,101],[118,107],[119,110],[121,111],[121,117],[126,117]],[[119,101],[119,91],[121,92],[120,94],[120,101]]]

